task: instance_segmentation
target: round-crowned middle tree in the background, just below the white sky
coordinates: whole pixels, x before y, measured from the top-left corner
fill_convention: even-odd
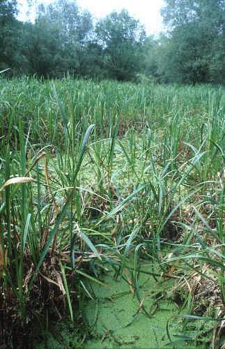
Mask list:
[[[146,33],[138,20],[126,10],[113,12],[98,22],[96,38],[104,52],[107,75],[117,80],[131,80],[141,69]]]

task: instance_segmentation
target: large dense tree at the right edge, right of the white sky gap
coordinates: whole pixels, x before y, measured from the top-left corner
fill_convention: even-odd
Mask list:
[[[169,81],[224,82],[225,1],[166,0],[159,71]]]

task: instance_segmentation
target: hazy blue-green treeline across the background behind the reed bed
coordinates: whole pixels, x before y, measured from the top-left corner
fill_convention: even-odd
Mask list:
[[[225,84],[224,0],[165,0],[158,38],[126,10],[96,22],[59,0],[39,6],[34,23],[17,11],[16,0],[0,0],[0,69],[10,74]]]

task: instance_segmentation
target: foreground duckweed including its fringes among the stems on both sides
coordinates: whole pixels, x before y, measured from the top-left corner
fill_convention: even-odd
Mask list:
[[[149,272],[148,265],[141,263],[141,271]],[[156,274],[160,274],[159,270]],[[176,279],[165,279],[150,274],[139,274],[139,292],[131,286],[132,272],[123,271],[117,279],[114,272],[104,276],[104,285],[91,282],[93,300],[86,301],[83,309],[84,324],[79,327],[61,322],[54,331],[47,332],[45,343],[35,348],[196,348],[194,337],[198,326],[205,330],[205,343],[198,341],[198,348],[208,348],[211,331],[209,324],[192,322],[193,328],[183,333],[183,320],[178,319],[178,306],[171,297]],[[134,279],[132,280],[134,285]],[[171,340],[170,343],[168,332]],[[205,327],[206,325],[206,327]],[[201,330],[201,331],[200,331]],[[201,343],[201,344],[200,344]]]

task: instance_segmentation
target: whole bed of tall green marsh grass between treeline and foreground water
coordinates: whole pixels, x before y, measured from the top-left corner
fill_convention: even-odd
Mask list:
[[[153,304],[178,308],[165,342],[217,348],[224,89],[23,77],[0,91],[1,344],[24,348],[65,315],[86,343],[86,299],[113,269],[137,299],[134,326],[157,312],[147,272]]]

